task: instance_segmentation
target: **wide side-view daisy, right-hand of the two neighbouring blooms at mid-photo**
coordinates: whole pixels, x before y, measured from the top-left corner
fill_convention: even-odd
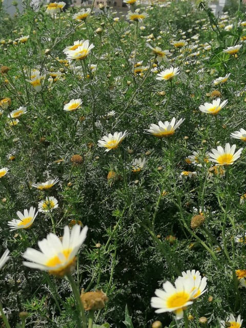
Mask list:
[[[149,133],[155,135],[158,138],[170,137],[175,133],[175,130],[180,126],[180,124],[185,120],[185,118],[180,118],[180,120],[175,124],[176,118],[173,117],[171,122],[165,121],[162,123],[158,122],[158,125],[151,124],[150,129],[147,130]]]

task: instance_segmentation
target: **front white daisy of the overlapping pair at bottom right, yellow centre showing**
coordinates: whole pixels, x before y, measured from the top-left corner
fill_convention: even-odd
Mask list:
[[[163,283],[163,291],[157,289],[151,298],[151,306],[157,308],[155,313],[174,312],[176,319],[183,317],[183,310],[193,303],[193,296],[197,290],[191,290],[194,286],[194,279],[176,279],[175,287],[171,282]]]

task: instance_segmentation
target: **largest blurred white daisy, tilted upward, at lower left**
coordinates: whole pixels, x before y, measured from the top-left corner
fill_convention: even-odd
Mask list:
[[[62,241],[55,234],[50,233],[47,238],[38,241],[41,252],[28,248],[23,257],[31,262],[23,262],[26,267],[50,274],[64,277],[70,274],[76,264],[76,254],[86,239],[88,227],[80,231],[80,226],[75,224],[71,234],[69,227],[64,228]]]

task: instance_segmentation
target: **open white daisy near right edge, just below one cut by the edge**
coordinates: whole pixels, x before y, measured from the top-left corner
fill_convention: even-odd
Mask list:
[[[212,149],[212,153],[209,153],[209,156],[212,157],[209,160],[217,163],[216,165],[232,165],[235,160],[240,157],[242,148],[240,148],[236,153],[235,150],[236,145],[231,147],[228,143],[226,144],[224,150],[221,146],[218,146],[217,149]]]

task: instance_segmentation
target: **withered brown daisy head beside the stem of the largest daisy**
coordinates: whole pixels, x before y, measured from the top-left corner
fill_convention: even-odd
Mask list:
[[[102,290],[81,294],[80,298],[86,311],[103,309],[105,302],[108,301],[107,295]]]

